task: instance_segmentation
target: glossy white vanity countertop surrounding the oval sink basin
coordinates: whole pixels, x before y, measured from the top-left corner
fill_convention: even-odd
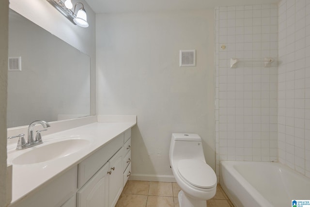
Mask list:
[[[92,155],[97,149],[108,144],[125,130],[133,127],[134,121],[129,122],[96,122],[81,127],[75,127],[60,132],[42,136],[43,144],[28,149],[15,150],[16,143],[8,145],[7,162],[13,165],[12,202],[22,200],[27,195],[39,191],[49,182],[69,170],[80,161]],[[33,164],[14,164],[14,159],[37,147],[67,139],[84,139],[90,141],[86,146],[70,155]],[[47,152],[48,153],[48,152]]]

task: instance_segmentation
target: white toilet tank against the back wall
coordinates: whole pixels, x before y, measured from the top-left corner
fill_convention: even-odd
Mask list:
[[[170,143],[170,160],[199,159],[205,162],[202,139],[198,134],[173,133]]]

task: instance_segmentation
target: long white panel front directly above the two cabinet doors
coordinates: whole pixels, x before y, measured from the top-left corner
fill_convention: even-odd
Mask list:
[[[97,150],[78,164],[78,188],[81,188],[123,145],[124,134]]]

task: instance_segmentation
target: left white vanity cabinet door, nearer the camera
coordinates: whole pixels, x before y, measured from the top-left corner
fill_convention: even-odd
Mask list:
[[[77,207],[108,207],[109,163],[106,163],[81,188],[78,193]]]

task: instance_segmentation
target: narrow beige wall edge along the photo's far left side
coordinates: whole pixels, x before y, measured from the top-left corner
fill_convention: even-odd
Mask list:
[[[0,1],[0,207],[6,205],[6,101],[9,1]]]

